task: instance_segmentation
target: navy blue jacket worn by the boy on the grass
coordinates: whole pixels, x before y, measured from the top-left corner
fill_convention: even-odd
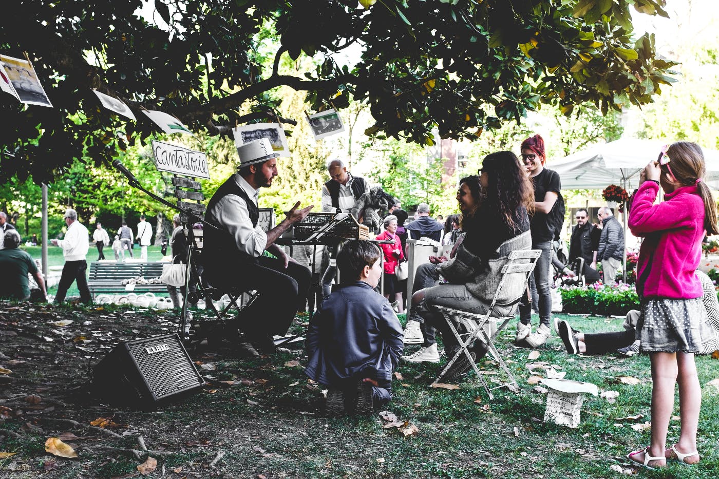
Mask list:
[[[384,296],[364,281],[341,286],[322,302],[307,333],[305,374],[345,386],[361,377],[392,382],[403,349],[400,321]]]

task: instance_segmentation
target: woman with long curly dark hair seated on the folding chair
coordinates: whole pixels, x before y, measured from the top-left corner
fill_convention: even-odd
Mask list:
[[[467,182],[462,184],[470,186]],[[473,211],[463,208],[464,195],[458,193],[462,209],[464,241],[457,248],[452,260],[441,263],[437,270],[448,283],[423,290],[424,301],[420,315],[425,323],[442,333],[447,357],[457,352],[457,338],[434,306],[447,306],[475,314],[485,314],[493,301],[500,282],[501,268],[490,268],[489,260],[508,261],[513,250],[531,247],[529,216],[533,206],[533,190],[524,168],[513,152],[500,151],[485,157],[475,188],[481,188],[482,199]],[[469,196],[471,187],[467,188]],[[498,263],[496,263],[498,264]],[[495,314],[512,314],[516,301],[525,291],[524,282],[518,275],[510,275],[495,305]],[[470,355],[485,355],[486,346],[475,342]],[[444,373],[444,379],[457,380],[472,368],[465,355],[460,355],[452,368]]]

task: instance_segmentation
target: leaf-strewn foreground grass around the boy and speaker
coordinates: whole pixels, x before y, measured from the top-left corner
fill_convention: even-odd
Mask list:
[[[55,311],[60,315],[66,312],[68,317],[78,314],[76,309],[70,308]],[[129,315],[130,310],[122,308],[116,312],[111,309],[83,311],[79,314],[85,314],[86,319],[93,319],[91,316],[94,315],[91,329],[97,329],[93,333],[103,337],[131,335],[133,328],[141,328],[147,335],[157,334],[152,328],[170,317],[170,313],[147,310]],[[100,318],[111,314],[117,319],[108,327],[111,324],[116,327],[105,332]],[[145,316],[140,318],[141,315]],[[621,319],[601,317],[559,316],[569,319],[575,329],[583,332],[616,331],[622,322]],[[131,318],[137,322],[128,322]],[[138,327],[138,324],[144,326]],[[72,351],[73,334],[86,334],[80,321],[72,327],[76,329],[66,332],[69,340],[62,344],[57,341],[44,344]],[[193,360],[198,365],[211,365],[201,368],[201,372],[212,379],[206,391],[186,401],[170,403],[152,412],[100,405],[79,408],[69,405],[63,409],[60,403],[56,404],[56,410],[46,415],[63,414],[82,424],[98,416],[113,417],[116,423],[124,424],[114,431],[128,435],[115,439],[75,427],[75,434],[88,437],[74,443],[81,449],[80,458],[62,460],[61,469],[47,472],[43,477],[139,477],[136,467],[145,460],[145,453],[142,460],[137,460],[132,455],[118,452],[122,448],[125,451],[130,447],[137,449],[134,439],[137,435],[145,438],[150,450],[165,451],[165,456],[158,458],[158,462],[167,468],[168,477],[175,477],[174,468],[183,467],[178,478],[184,474],[201,478],[267,479],[623,477],[610,469],[613,465],[647,478],[715,479],[719,475],[719,389],[707,384],[719,377],[718,360],[697,357],[703,391],[698,434],[702,454],[700,465],[684,467],[669,462],[670,466],[664,470],[637,472],[629,468],[624,456],[649,444],[649,429],[641,426],[650,419],[649,357],[569,356],[564,352],[561,340],[551,337],[537,350],[539,357],[530,360],[531,350],[514,347],[514,333],[512,324],[508,331],[500,334],[498,347],[518,380],[521,388],[518,394],[500,388],[495,390],[493,401],[489,401],[473,377],[474,373],[470,373],[470,378],[460,383],[458,389],[430,388],[440,365],[400,365],[397,372],[401,379],[393,382],[394,399],[388,409],[400,421],[410,421],[418,427],[418,432],[408,437],[403,437],[396,428],[384,429],[385,421],[380,416],[369,419],[322,417],[319,413],[321,388],[308,383],[303,375],[306,355],[302,349],[257,360],[239,360],[222,352],[193,352]],[[416,347],[408,348],[408,352]],[[6,352],[10,355],[9,350]],[[45,367],[32,370],[29,363],[16,364],[12,369],[16,370],[17,377],[34,374],[35,382],[27,382],[28,388],[34,388],[36,386],[32,385],[37,383],[52,384],[47,383],[52,378],[60,380],[60,370],[64,368],[79,370],[84,367],[83,360],[63,359],[69,357],[67,354],[57,357],[60,360],[57,367],[48,366],[47,370]],[[614,403],[609,403],[599,396],[585,396],[582,423],[576,429],[545,424],[546,395],[528,383],[531,375],[545,375],[544,368],[528,368],[529,364],[538,362],[566,371],[567,379],[595,383],[600,391],[617,391],[618,397]],[[486,371],[485,378],[490,383],[497,385],[500,382],[500,370],[491,360],[482,361],[480,369]],[[624,377],[636,378],[638,383],[623,383],[620,378]],[[241,381],[242,378],[249,379]],[[75,382],[78,380],[79,377]],[[229,381],[229,384],[221,381]],[[23,380],[18,380],[14,383],[15,389],[8,393],[22,395],[23,384]],[[55,386],[50,388],[40,394],[52,397],[50,392],[55,391]],[[65,403],[71,402],[65,396],[59,397]],[[679,416],[678,404],[673,414]],[[630,417],[636,415],[644,416]],[[41,421],[39,424],[44,425],[46,434],[42,435],[26,429],[25,422],[27,419],[11,417],[6,424],[0,424],[0,428],[26,434],[25,439],[10,438],[1,444],[0,450],[18,452],[18,455],[0,460],[0,472],[3,467],[19,470],[23,464],[29,465],[32,471],[42,471],[42,461],[50,457],[43,450],[46,437],[57,435],[67,430],[62,428],[68,427],[60,424],[48,429],[48,423]],[[675,442],[678,436],[679,421],[672,419],[668,443]],[[117,449],[92,452],[96,444]],[[210,465],[219,452],[224,452],[224,457]],[[154,473],[157,477],[160,476],[160,465]],[[37,477],[36,472],[30,471],[27,475],[10,474],[10,477]]]

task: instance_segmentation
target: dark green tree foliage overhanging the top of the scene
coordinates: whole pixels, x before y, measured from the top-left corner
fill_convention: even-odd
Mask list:
[[[629,11],[666,16],[663,5],[155,0],[157,22],[148,22],[136,12],[139,0],[19,0],[0,17],[0,48],[29,53],[55,108],[24,109],[0,96],[0,181],[17,174],[47,182],[73,159],[111,160],[155,133],[142,108],[228,133],[257,111],[266,115],[275,104],[263,101],[280,86],[306,91],[315,110],[330,100],[339,108],[350,98],[369,104],[375,124],[367,133],[426,145],[435,128],[442,138],[472,139],[542,103],[564,114],[587,101],[604,112],[646,104],[674,80],[672,63],[655,58],[651,36],[634,42]],[[271,70],[260,53],[268,24],[280,38]],[[354,45],[354,65],[338,63],[333,54]],[[325,58],[290,75],[278,69],[284,53]],[[90,88],[126,101],[138,122],[102,109]],[[257,102],[256,111],[240,115],[247,102]]]

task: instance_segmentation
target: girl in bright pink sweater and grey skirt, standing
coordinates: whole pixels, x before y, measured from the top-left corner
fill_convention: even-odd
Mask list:
[[[637,339],[651,360],[651,443],[627,457],[649,468],[667,459],[695,464],[702,391],[694,354],[714,337],[702,306],[702,285],[695,275],[702,237],[717,234],[716,205],[707,185],[702,149],[692,142],[665,146],[658,161],[641,173],[629,228],[644,237],[639,250],[636,289],[641,298]],[[654,204],[659,186],[664,201]],[[667,430],[679,383],[682,416],[679,442],[667,449]]]

